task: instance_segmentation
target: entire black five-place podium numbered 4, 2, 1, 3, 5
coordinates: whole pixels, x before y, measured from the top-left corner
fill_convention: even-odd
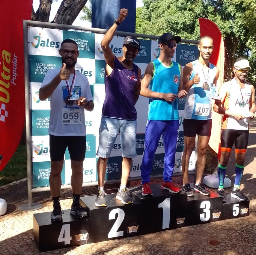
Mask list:
[[[204,196],[195,192],[176,194],[162,190],[161,184],[152,184],[153,196],[141,195],[142,186],[129,187],[133,204],[124,205],[107,194],[107,207],[96,207],[96,195],[83,196],[80,204],[88,218],[76,219],[70,210],[64,210],[63,222],[51,223],[51,212],[34,214],[34,240],[39,251],[49,251],[86,243],[158,232],[195,224],[249,215],[250,201],[238,201],[227,195],[227,202],[211,192]]]

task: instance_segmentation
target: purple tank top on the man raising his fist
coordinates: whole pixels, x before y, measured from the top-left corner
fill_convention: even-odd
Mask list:
[[[138,82],[138,66],[126,69],[115,57],[112,73],[105,74],[106,97],[102,107],[102,116],[136,120],[137,112],[133,102],[135,86]]]

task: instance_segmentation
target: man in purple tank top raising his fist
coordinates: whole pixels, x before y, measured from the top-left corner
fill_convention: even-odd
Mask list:
[[[115,139],[120,133],[122,147],[122,177],[116,199],[123,204],[131,204],[132,197],[126,192],[127,180],[132,167],[132,158],[136,157],[136,119],[135,103],[138,100],[138,88],[141,70],[133,63],[140,49],[140,42],[134,36],[124,40],[122,57],[115,57],[109,47],[115,31],[128,14],[121,9],[118,19],[106,32],[101,48],[106,60],[105,91],[106,97],[102,108],[100,138],[97,155],[98,193],[96,206],[107,206],[104,180],[107,160],[110,157]]]

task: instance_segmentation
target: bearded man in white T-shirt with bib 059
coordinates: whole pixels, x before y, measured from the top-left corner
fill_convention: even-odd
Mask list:
[[[79,204],[83,182],[83,161],[86,151],[85,110],[92,111],[94,103],[90,85],[85,75],[75,71],[78,47],[75,41],[66,39],[59,49],[63,65],[49,70],[39,90],[39,99],[50,101],[50,157],[51,173],[49,177],[53,212],[51,222],[61,222],[60,205],[61,171],[64,154],[68,148],[71,159],[71,186],[73,203],[70,214],[83,218],[87,213]],[[73,96],[74,99],[72,98]]]

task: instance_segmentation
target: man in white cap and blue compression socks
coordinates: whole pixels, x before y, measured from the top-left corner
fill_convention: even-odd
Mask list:
[[[233,66],[235,77],[220,87],[221,102],[216,101],[214,104],[214,111],[224,115],[218,168],[218,194],[222,196],[223,202],[226,202],[223,183],[233,144],[235,144],[236,177],[231,197],[239,201],[247,200],[247,197],[240,191],[240,184],[249,139],[249,119],[254,118],[256,110],[254,86],[246,81],[249,70],[251,70],[249,61],[245,58],[238,58]]]

